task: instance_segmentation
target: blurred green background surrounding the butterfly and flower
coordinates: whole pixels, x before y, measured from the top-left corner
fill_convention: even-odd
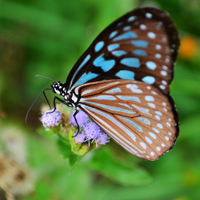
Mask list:
[[[176,145],[154,162],[108,147],[71,174],[55,136],[41,134],[49,80],[66,77],[95,37],[139,6],[170,13],[181,35],[171,85],[180,114]],[[0,0],[0,200],[196,200],[200,198],[199,0]],[[47,92],[51,102],[52,92]],[[109,145],[108,145],[109,146]],[[111,148],[112,149],[112,148]]]

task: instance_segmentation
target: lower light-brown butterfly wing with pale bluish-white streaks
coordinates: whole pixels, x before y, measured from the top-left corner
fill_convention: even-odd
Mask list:
[[[110,80],[78,86],[78,107],[136,157],[156,160],[178,136],[171,97],[140,81]]]

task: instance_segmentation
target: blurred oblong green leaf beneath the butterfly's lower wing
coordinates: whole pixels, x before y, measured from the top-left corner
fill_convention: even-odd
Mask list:
[[[144,185],[152,180],[144,169],[116,160],[106,147],[94,153],[90,167],[124,186]]]

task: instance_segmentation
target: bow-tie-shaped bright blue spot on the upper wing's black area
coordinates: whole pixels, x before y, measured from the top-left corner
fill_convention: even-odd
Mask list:
[[[99,57],[97,57],[93,64],[95,67],[101,67],[104,72],[109,71],[111,68],[115,66],[115,60],[105,60],[103,58],[104,53],[102,53]]]

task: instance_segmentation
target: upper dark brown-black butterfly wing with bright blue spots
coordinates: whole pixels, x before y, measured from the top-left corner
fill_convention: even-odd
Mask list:
[[[133,10],[94,40],[71,70],[66,88],[128,79],[146,82],[168,94],[179,44],[177,29],[165,12]]]

